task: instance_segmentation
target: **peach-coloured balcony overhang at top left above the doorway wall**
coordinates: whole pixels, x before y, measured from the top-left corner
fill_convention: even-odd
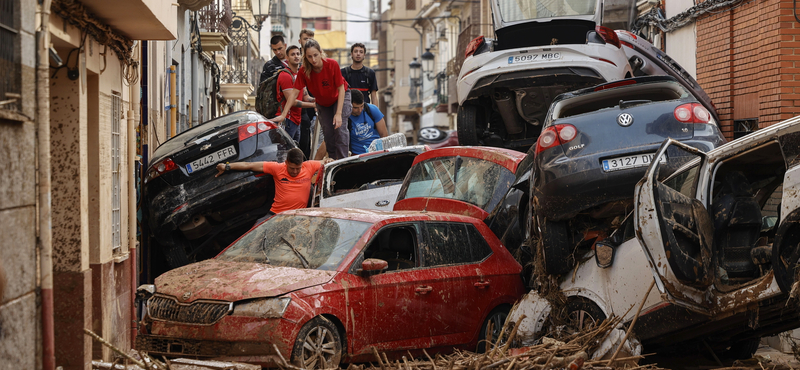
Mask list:
[[[131,40],[174,40],[178,35],[178,7],[170,1],[53,0],[53,8],[83,5],[86,12]]]

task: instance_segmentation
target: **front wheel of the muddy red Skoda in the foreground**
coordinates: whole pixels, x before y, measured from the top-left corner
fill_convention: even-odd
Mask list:
[[[300,329],[292,349],[292,362],[302,369],[338,368],[342,339],[330,320],[318,316]]]

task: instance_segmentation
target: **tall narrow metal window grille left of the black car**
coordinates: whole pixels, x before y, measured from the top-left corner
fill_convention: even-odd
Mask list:
[[[122,212],[120,198],[120,172],[122,157],[120,154],[120,121],[122,120],[122,97],[116,91],[111,94],[111,248],[119,252],[122,245]],[[129,149],[130,150],[130,149]]]

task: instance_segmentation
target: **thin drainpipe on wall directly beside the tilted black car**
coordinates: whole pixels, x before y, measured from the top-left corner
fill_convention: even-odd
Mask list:
[[[137,48],[139,45],[136,45]],[[136,52],[137,49],[133,51]],[[141,55],[141,54],[140,54]],[[138,58],[136,58],[138,59]],[[139,68],[138,66],[136,68]],[[139,111],[139,83],[129,86],[128,94],[130,103],[128,104],[128,261],[130,261],[131,271],[131,348],[136,343],[136,331],[138,329],[136,317],[136,288],[139,280],[139,270],[136,264],[136,116]]]

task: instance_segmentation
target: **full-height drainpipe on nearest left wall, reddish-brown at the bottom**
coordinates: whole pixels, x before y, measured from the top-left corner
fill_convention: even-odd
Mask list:
[[[36,145],[39,162],[39,273],[42,300],[42,369],[55,370],[53,322],[53,225],[50,179],[50,0],[39,9],[39,49],[36,63]]]

